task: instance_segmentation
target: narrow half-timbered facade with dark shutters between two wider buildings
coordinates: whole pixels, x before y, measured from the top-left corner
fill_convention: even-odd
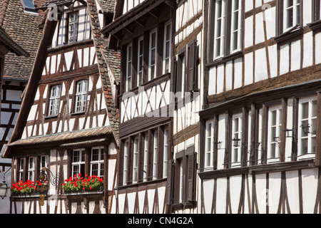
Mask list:
[[[172,213],[198,213],[198,151],[203,104],[203,1],[176,4],[173,61],[173,159],[168,169]]]

